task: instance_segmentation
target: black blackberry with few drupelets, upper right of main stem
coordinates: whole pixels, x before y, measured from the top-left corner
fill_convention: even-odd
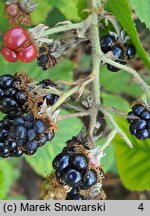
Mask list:
[[[100,39],[101,49],[104,53],[112,52],[115,62],[125,65],[127,60],[135,57],[136,49],[132,44],[119,44],[112,35],[105,35]],[[111,72],[117,72],[120,69],[107,64],[107,69]]]

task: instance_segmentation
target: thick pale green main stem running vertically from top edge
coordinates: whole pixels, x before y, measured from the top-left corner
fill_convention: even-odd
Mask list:
[[[90,41],[92,46],[92,65],[93,71],[92,75],[95,78],[93,81],[93,107],[91,108],[90,115],[90,124],[89,124],[89,139],[91,142],[91,147],[94,146],[93,141],[93,132],[97,120],[97,107],[100,105],[100,62],[101,62],[101,49],[100,49],[100,40],[99,40],[99,28],[98,28],[98,3],[100,5],[101,1],[99,0],[88,0],[89,9],[91,9],[91,19],[92,24],[90,26]]]

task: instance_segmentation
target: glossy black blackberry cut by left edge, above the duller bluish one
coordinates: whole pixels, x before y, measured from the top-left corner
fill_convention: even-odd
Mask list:
[[[27,95],[20,90],[20,82],[12,75],[0,76],[0,111],[16,117],[26,111]]]

